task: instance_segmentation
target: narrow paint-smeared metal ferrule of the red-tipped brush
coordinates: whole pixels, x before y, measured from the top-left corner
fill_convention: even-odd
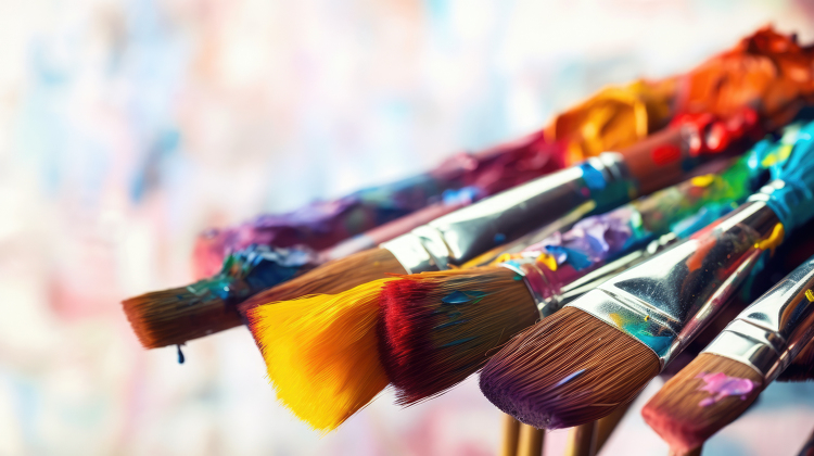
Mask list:
[[[563,269],[551,270],[542,264],[536,255],[504,262],[498,266],[513,270],[523,277],[523,282],[537,305],[540,318],[546,318],[598,284],[664,251],[677,241],[678,238],[674,233],[664,235],[624,256],[606,263],[597,263],[589,268],[576,271],[576,276],[570,274],[563,277],[561,274]],[[573,269],[569,273],[573,273]]]

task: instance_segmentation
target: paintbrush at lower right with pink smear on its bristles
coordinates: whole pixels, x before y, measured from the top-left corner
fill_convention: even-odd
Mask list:
[[[814,257],[743,309],[641,409],[671,448],[703,444],[739,417],[814,339]]]

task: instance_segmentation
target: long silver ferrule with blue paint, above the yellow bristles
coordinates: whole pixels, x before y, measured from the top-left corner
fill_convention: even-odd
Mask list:
[[[593,176],[586,176],[590,172]],[[597,180],[597,176],[601,176]],[[455,211],[381,244],[409,274],[459,266],[561,217],[627,202],[635,182],[622,155],[606,152]],[[593,201],[595,204],[585,204]],[[576,213],[574,213],[576,212]]]

